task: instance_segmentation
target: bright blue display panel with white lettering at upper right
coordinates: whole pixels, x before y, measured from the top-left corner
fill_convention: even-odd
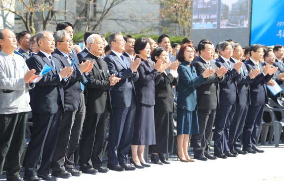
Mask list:
[[[284,45],[284,0],[253,0],[251,45]]]

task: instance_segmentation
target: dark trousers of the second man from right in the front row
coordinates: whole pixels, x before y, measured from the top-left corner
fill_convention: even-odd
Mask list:
[[[244,124],[248,112],[248,105],[237,105],[236,111],[233,117],[229,129],[229,147],[230,151],[241,150],[241,136],[243,134]]]

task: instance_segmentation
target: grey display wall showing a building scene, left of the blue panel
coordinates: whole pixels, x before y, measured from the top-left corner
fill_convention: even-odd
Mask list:
[[[204,38],[215,45],[233,39],[249,46],[250,10],[251,0],[193,0],[190,38],[195,46]]]

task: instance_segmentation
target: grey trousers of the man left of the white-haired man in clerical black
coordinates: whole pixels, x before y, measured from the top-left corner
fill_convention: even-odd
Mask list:
[[[78,147],[85,119],[85,112],[85,97],[84,94],[81,93],[78,109],[67,110],[62,115],[56,148],[52,160],[53,171],[65,171],[65,167],[70,169],[75,168],[75,164],[70,157],[74,154]]]

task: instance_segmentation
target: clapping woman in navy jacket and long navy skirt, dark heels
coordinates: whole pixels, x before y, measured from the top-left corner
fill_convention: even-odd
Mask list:
[[[132,138],[132,159],[130,162],[136,168],[149,167],[144,158],[145,145],[155,144],[154,104],[155,85],[162,77],[164,64],[161,60],[152,65],[148,60],[150,56],[150,44],[146,38],[139,38],[134,45],[137,54],[136,59],[141,59],[138,68],[139,79],[134,83],[138,104],[136,107],[136,119]]]

